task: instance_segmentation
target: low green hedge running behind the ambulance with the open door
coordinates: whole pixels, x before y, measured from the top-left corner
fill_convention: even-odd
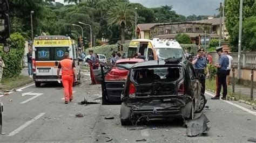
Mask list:
[[[190,51],[190,53],[196,54],[198,51],[198,46],[196,44],[180,44],[180,46],[185,50],[187,49]],[[127,53],[128,52],[128,47],[129,44],[124,44],[123,49],[124,51],[122,53]],[[102,46],[97,46],[97,47],[92,47],[92,48],[87,48],[85,50],[86,54],[89,53],[89,50],[93,50],[93,53],[97,54],[103,54],[106,56],[107,59],[111,58],[111,54],[113,51],[117,51],[117,44],[115,45],[102,45]]]

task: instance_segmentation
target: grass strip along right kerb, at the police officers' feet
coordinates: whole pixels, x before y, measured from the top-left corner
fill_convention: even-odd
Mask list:
[[[215,80],[206,80],[205,82],[205,87],[207,90],[210,90],[212,92],[215,93],[216,91],[216,81]],[[221,92],[223,92],[223,88],[221,88]],[[248,101],[251,103],[256,103],[255,99],[251,100],[250,99],[250,95],[245,95],[242,94],[241,92],[232,92],[232,88],[231,87],[227,87],[227,98],[228,99],[233,99],[234,101],[239,101],[239,100],[244,100],[244,101]]]

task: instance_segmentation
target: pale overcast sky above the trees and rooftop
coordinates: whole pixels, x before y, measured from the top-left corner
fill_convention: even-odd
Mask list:
[[[147,8],[159,7],[161,5],[172,5],[179,15],[214,15],[218,14],[220,2],[224,0],[130,0],[132,3],[143,4]],[[64,0],[55,0],[64,3]]]

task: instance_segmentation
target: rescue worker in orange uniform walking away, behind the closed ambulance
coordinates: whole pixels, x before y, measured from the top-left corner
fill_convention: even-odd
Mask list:
[[[64,53],[64,59],[59,62],[57,77],[60,78],[59,72],[62,69],[62,84],[64,87],[65,104],[73,99],[73,82],[77,80],[76,66],[73,60],[69,59],[69,53]]]

